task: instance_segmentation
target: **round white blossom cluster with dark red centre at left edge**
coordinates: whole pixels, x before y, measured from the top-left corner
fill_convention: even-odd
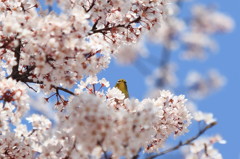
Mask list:
[[[29,110],[29,95],[26,86],[15,80],[1,79],[0,81],[0,131],[9,130],[8,122],[17,125]]]

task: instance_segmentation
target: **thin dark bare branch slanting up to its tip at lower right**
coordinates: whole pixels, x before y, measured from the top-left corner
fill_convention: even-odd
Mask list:
[[[158,154],[152,155],[152,156],[148,157],[147,159],[154,159],[154,158],[159,157],[159,156],[162,156],[162,155],[164,155],[164,154],[166,154],[166,153],[175,151],[175,150],[179,149],[179,148],[182,147],[182,146],[191,144],[193,141],[195,141],[195,140],[196,140],[197,138],[199,138],[202,134],[204,134],[208,129],[212,128],[212,127],[215,126],[216,124],[217,124],[217,122],[213,122],[213,123],[205,126],[202,130],[200,130],[200,131],[198,132],[198,134],[197,134],[196,136],[194,136],[194,137],[186,140],[185,142],[179,142],[178,145],[176,145],[176,146],[174,146],[174,147],[172,147],[172,148],[169,148],[169,149],[167,149],[167,150],[165,150],[165,151],[162,151],[162,152],[160,152],[160,153],[158,153]]]

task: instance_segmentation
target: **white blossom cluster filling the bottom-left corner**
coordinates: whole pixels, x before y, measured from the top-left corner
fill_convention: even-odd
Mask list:
[[[6,104],[0,115],[1,124],[8,127],[3,129],[1,125],[0,158],[36,158],[37,153],[42,151],[45,140],[49,137],[50,120],[42,115],[33,114],[26,119],[32,124],[32,129],[28,130],[27,124],[23,124],[20,117],[18,117],[17,124],[13,123],[13,127],[11,119],[16,116],[16,113],[9,108]]]

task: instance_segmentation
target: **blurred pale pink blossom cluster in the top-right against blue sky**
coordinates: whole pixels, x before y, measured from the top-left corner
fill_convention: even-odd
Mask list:
[[[206,51],[217,49],[217,44],[211,35],[231,31],[234,22],[229,16],[205,5],[192,7],[192,14],[189,31],[182,36],[182,42],[186,46],[182,57],[205,59]]]

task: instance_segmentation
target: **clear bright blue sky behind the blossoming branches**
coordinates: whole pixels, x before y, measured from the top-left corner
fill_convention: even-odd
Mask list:
[[[175,53],[172,61],[177,61],[179,66],[177,74],[180,82],[187,72],[193,69],[206,74],[208,69],[216,68],[227,78],[226,85],[220,91],[196,103],[200,110],[212,112],[217,118],[217,126],[209,130],[206,135],[219,133],[227,140],[225,145],[216,144],[223,158],[240,159],[240,103],[238,102],[240,99],[240,29],[238,27],[240,25],[240,1],[198,0],[190,3],[214,4],[221,12],[235,20],[235,29],[231,33],[215,36],[219,44],[217,54],[209,54],[206,61],[188,62],[178,60],[179,54]],[[150,51],[160,52],[159,48],[154,46],[150,46]],[[142,99],[147,90],[144,75],[134,65],[119,66],[112,61],[110,67],[100,73],[100,77],[107,78],[111,86],[114,86],[120,78],[126,79],[131,97]],[[177,93],[181,94],[181,91]]]

